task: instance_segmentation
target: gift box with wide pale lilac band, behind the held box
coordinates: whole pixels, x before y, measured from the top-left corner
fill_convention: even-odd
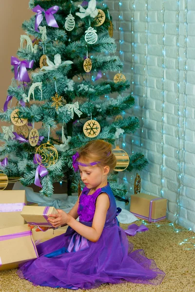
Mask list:
[[[0,228],[25,224],[20,213],[26,205],[25,190],[0,191]]]

